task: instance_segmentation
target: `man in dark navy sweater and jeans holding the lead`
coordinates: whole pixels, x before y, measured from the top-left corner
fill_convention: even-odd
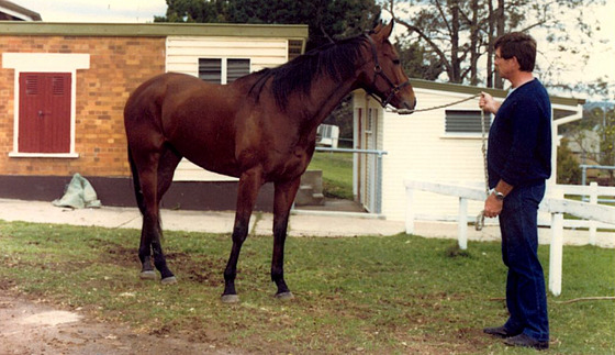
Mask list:
[[[489,132],[488,171],[491,195],[484,215],[500,218],[502,258],[508,267],[510,318],[484,332],[511,346],[549,347],[549,321],[543,267],[538,260],[538,204],[551,175],[551,106],[534,78],[536,41],[508,33],[495,41],[495,68],[511,81],[499,103],[483,92],[479,106],[495,114]]]

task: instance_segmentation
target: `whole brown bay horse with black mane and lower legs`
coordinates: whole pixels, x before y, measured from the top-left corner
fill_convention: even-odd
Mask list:
[[[275,296],[292,299],[284,281],[290,210],[315,149],[316,129],[353,90],[362,88],[382,107],[412,110],[416,99],[390,43],[393,22],[331,43],[276,68],[227,85],[167,73],[137,87],[124,108],[128,162],[143,215],[141,278],[177,279],[161,246],[159,202],[182,158],[238,178],[233,246],[224,269],[223,302],[239,300],[237,262],[260,187],[273,182]],[[152,255],[153,254],[153,255]]]

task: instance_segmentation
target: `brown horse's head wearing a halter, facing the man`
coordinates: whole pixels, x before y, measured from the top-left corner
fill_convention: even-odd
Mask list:
[[[378,24],[373,31],[366,34],[369,43],[369,56],[365,65],[361,87],[371,96],[377,97],[382,107],[388,104],[395,109],[413,110],[416,106],[414,90],[403,71],[400,56],[395,47],[389,42],[393,31],[393,21],[388,25]]]

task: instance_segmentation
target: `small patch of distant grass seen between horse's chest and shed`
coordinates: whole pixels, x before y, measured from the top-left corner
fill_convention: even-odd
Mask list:
[[[326,197],[353,199],[353,153],[315,152],[308,169],[323,170]]]

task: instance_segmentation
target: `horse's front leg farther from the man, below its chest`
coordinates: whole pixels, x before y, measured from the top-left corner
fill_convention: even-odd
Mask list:
[[[242,174],[239,186],[237,189],[237,210],[235,211],[235,225],[233,228],[233,247],[231,256],[224,269],[224,293],[222,293],[222,302],[238,302],[239,297],[235,290],[235,277],[237,276],[237,262],[239,252],[244,244],[249,230],[249,219],[258,190],[262,185],[260,170],[249,170]]]

